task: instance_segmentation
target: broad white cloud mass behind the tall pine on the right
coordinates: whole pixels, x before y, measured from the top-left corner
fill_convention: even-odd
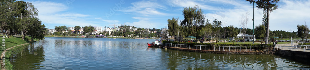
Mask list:
[[[223,2],[224,3],[224,2]],[[232,2],[233,3],[233,2]],[[249,23],[247,28],[253,28],[253,4],[236,4],[234,8],[224,8],[224,10],[217,10],[213,13],[207,13],[206,19],[210,21],[218,19],[219,21],[228,21],[228,25],[239,27],[239,17],[242,12],[250,12]],[[309,23],[310,19],[310,1],[291,1],[281,0],[278,3],[278,9],[270,12],[270,30],[284,30],[284,31],[297,31],[298,24],[304,24],[304,21]],[[255,24],[258,26],[262,24],[263,10],[255,7]]]

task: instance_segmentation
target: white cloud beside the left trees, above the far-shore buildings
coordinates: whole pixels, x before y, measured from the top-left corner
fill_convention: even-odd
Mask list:
[[[39,19],[46,27],[51,24],[69,25],[70,26],[97,26],[97,24],[86,21],[85,18],[90,15],[77,13],[63,13],[68,10],[68,6],[63,3],[35,1],[33,5],[38,9]]]

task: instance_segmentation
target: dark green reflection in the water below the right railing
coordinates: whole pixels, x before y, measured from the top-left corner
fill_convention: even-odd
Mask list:
[[[167,58],[168,69],[297,69],[307,65],[283,59],[274,55],[230,55],[209,54],[167,50],[162,58]]]

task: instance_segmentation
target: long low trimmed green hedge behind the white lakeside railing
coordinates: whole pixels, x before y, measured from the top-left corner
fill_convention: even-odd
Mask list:
[[[173,41],[166,41],[166,40],[162,40],[162,43],[206,45],[206,46],[273,47],[273,44],[188,43],[188,42],[173,42]]]

